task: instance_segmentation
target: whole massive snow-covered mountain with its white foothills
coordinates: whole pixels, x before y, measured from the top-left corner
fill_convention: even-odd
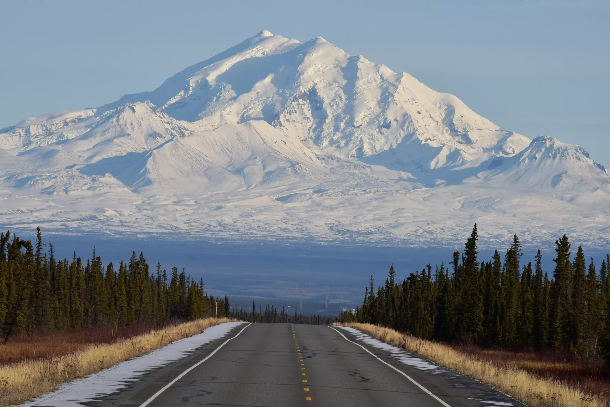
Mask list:
[[[610,176],[581,147],[268,31],[152,92],[2,129],[0,158],[11,227],[417,245],[474,222],[532,240],[610,226]]]

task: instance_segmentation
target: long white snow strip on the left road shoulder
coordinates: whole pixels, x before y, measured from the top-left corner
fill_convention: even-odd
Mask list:
[[[199,334],[176,340],[146,355],[115,364],[115,366],[85,378],[70,381],[64,384],[60,390],[30,400],[19,407],[84,406],[84,403],[93,402],[106,395],[116,394],[126,389],[129,387],[130,381],[137,380],[150,370],[159,369],[184,358],[190,351],[225,336],[233,328],[243,323],[225,322],[210,326]]]

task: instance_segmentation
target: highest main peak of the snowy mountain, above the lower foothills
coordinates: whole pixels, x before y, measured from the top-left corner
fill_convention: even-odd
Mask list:
[[[321,37],[301,44],[268,31],[98,111],[146,101],[210,128],[262,120],[346,158],[400,149],[402,165],[422,169],[511,156],[529,144],[407,73],[350,56]]]

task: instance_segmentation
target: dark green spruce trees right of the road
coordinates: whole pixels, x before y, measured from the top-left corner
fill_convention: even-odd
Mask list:
[[[478,259],[477,226],[449,263],[430,264],[404,280],[389,276],[365,289],[356,314],[340,320],[381,324],[423,339],[506,349],[569,352],[610,362],[610,256],[597,272],[578,247],[573,259],[567,236],[555,242],[554,270],[542,270],[538,250],[523,264],[517,235],[504,253]]]

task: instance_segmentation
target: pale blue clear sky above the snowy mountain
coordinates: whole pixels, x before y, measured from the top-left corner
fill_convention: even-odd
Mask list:
[[[0,128],[152,90],[268,29],[407,71],[610,166],[609,1],[0,0]]]

